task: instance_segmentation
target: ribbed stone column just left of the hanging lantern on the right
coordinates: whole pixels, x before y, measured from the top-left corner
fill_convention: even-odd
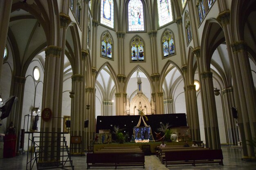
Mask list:
[[[207,139],[207,147],[211,149],[220,149],[220,134],[218,127],[218,117],[216,112],[216,103],[215,97],[213,93],[213,81],[212,81],[212,73],[210,71],[202,72],[202,92],[204,95],[204,112],[206,119],[206,139]]]

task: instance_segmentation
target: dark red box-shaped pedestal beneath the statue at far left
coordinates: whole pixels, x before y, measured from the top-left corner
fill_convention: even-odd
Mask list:
[[[4,136],[4,158],[12,158],[16,156],[16,135]]]

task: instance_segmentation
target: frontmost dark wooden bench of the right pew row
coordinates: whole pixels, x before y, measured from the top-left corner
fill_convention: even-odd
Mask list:
[[[222,150],[173,150],[165,152],[165,162],[172,164],[219,163],[223,165]]]

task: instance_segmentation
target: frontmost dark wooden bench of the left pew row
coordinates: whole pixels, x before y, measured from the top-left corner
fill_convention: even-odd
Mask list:
[[[87,169],[90,167],[111,166],[143,166],[145,168],[144,153],[88,153],[86,157]]]

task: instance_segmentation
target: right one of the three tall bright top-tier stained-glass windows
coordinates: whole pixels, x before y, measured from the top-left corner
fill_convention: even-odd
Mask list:
[[[159,26],[173,21],[171,0],[157,0]]]

